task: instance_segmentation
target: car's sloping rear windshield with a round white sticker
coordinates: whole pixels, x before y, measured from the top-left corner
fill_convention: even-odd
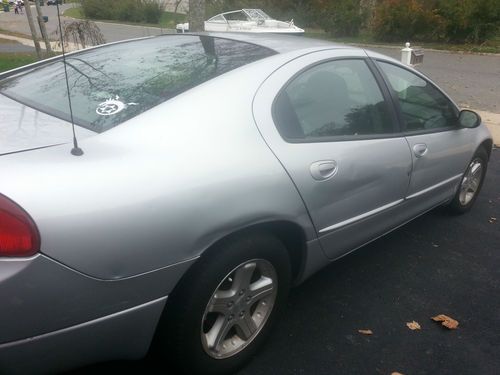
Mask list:
[[[275,52],[254,44],[165,35],[66,57],[77,125],[106,131],[192,87]],[[64,63],[48,63],[0,81],[0,92],[70,121]]]

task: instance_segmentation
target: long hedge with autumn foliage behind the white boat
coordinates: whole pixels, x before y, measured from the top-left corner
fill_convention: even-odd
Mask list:
[[[187,1],[187,0],[185,0]],[[500,0],[206,0],[207,16],[262,7],[334,36],[359,32],[382,41],[482,43],[500,28]]]

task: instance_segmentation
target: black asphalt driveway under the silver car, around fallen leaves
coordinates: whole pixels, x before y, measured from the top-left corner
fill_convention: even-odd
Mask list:
[[[500,150],[472,212],[435,210],[294,289],[264,350],[238,375],[498,374]],[[447,314],[448,331],[429,318]],[[405,323],[417,321],[421,331]],[[371,329],[363,336],[358,329]],[[149,361],[68,375],[164,374]]]

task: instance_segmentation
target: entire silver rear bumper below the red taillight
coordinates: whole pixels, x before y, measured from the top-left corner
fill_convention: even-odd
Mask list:
[[[144,356],[167,296],[194,261],[100,280],[42,254],[0,259],[0,374]]]

